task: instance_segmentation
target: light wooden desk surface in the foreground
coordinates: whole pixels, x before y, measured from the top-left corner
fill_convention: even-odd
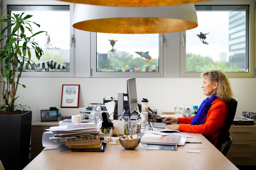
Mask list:
[[[120,144],[107,144],[105,152],[60,152],[44,150],[23,170],[238,170],[201,134],[191,133],[177,151],[126,150]],[[187,149],[199,150],[188,153]]]

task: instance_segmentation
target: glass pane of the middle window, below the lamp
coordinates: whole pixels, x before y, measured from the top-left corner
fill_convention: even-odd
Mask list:
[[[97,72],[158,72],[158,34],[97,33]]]

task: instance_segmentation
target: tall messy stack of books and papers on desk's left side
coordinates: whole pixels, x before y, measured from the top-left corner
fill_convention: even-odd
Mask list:
[[[100,129],[94,123],[51,127],[47,130],[53,132],[49,140],[65,142],[66,148],[72,151],[101,151],[105,147],[99,138]]]

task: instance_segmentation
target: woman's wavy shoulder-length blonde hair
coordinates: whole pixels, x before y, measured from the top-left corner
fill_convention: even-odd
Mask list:
[[[230,81],[228,80],[226,74],[219,70],[210,70],[202,73],[201,77],[210,80],[212,84],[218,82],[218,87],[215,95],[218,98],[222,99],[224,102],[230,101],[233,93],[231,90]]]

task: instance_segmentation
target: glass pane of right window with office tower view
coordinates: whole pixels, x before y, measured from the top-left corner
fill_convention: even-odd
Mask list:
[[[198,27],[186,31],[186,72],[249,72],[249,7],[196,9]]]

